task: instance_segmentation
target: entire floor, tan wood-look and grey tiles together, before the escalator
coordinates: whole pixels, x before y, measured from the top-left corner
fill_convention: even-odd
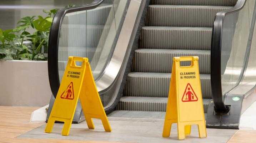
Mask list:
[[[254,111],[254,106],[250,107]],[[255,143],[254,137],[256,136],[256,131],[250,130],[226,130],[226,129],[208,129],[208,137],[206,139],[199,139],[197,135],[196,127],[192,128],[191,136],[187,137],[184,141],[177,141],[176,127],[172,130],[172,135],[170,138],[162,138],[162,122],[157,120],[144,120],[144,121],[131,121],[130,119],[122,118],[122,121],[117,118],[110,117],[110,123],[113,132],[106,133],[100,121],[95,121],[96,129],[89,130],[86,129],[86,123],[77,124],[72,126],[70,131],[70,136],[64,138],[60,136],[61,124],[56,124],[54,132],[51,135],[53,137],[46,138],[45,136],[37,138],[29,138],[28,135],[31,134],[34,128],[35,131],[40,134],[45,134],[44,122],[40,123],[29,123],[30,114],[34,111],[35,107],[5,107],[0,106],[0,143],[112,143],[117,140],[125,139],[125,142],[226,142],[235,134],[228,143]],[[250,110],[249,110],[250,111]],[[249,112],[248,111],[248,112]],[[247,113],[247,112],[245,112]],[[249,113],[247,113],[249,114]],[[252,116],[251,118],[254,118]],[[244,122],[246,114],[241,118],[241,122]],[[248,120],[250,122],[250,119]],[[255,121],[255,120],[254,120]],[[244,126],[245,127],[245,126]],[[254,128],[254,127],[253,127]],[[142,132],[141,132],[142,131]],[[237,131],[237,132],[236,132]],[[26,133],[27,132],[27,133]],[[75,134],[79,132],[78,134]],[[25,133],[25,134],[24,134]],[[76,135],[74,138],[72,135]],[[105,134],[105,135],[104,135]],[[19,136],[20,135],[20,136]],[[97,136],[101,135],[101,136]],[[19,137],[17,137],[19,136]],[[22,137],[22,138],[21,138]],[[85,138],[84,138],[85,137]],[[97,138],[96,138],[97,137]],[[39,139],[40,138],[40,139]],[[55,138],[55,139],[53,139]],[[56,139],[60,138],[60,139]],[[73,140],[75,139],[75,140]],[[81,139],[82,141],[78,141]],[[84,140],[85,139],[85,140]],[[123,141],[123,142],[124,142]],[[117,143],[117,142],[116,142]],[[120,143],[120,142],[118,142]]]

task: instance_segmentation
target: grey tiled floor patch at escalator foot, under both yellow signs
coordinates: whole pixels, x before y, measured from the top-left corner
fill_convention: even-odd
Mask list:
[[[55,124],[52,133],[44,133],[45,125],[17,138],[68,139],[81,141],[137,142],[137,143],[226,143],[236,133],[234,129],[207,129],[207,138],[199,138],[197,126],[192,126],[186,140],[177,140],[177,126],[172,126],[171,136],[162,137],[164,120],[109,117],[112,132],[105,132],[100,120],[94,120],[95,129],[86,122],[72,124],[69,136],[61,136],[63,124]]]

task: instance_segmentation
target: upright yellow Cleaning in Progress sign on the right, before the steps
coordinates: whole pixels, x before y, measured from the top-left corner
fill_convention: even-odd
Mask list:
[[[199,137],[207,137],[198,60],[197,56],[173,58],[163,137],[170,136],[172,123],[177,123],[178,139],[185,139],[194,124]],[[191,61],[191,65],[180,66],[181,61]]]

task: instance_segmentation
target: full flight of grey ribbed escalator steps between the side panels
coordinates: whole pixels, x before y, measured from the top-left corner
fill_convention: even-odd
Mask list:
[[[218,11],[237,0],[151,0],[139,49],[125,91],[110,117],[164,118],[172,58],[199,56],[199,71],[207,112],[211,100],[210,50],[212,25]],[[187,63],[183,63],[185,66]]]

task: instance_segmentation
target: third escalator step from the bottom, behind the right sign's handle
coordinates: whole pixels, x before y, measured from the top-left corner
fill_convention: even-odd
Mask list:
[[[137,49],[132,71],[171,73],[173,57],[199,56],[200,73],[210,74],[210,54],[210,50]],[[190,62],[181,63],[181,66],[188,65]]]

